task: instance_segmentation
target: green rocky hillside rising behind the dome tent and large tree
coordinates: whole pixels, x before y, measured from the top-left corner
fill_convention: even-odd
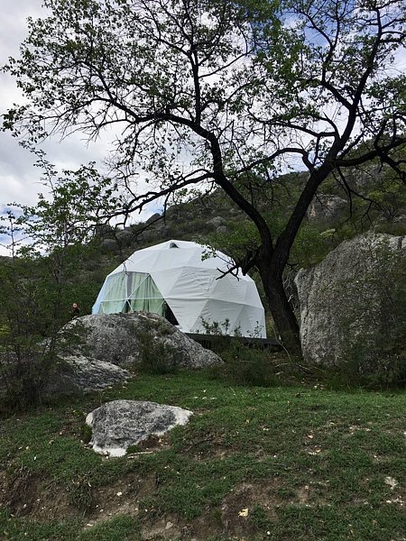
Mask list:
[[[302,173],[291,173],[275,179],[272,185],[259,182],[261,187],[254,194],[247,192],[246,196],[250,200],[254,197],[254,204],[277,232],[289,218],[303,182]],[[339,178],[331,178],[320,187],[303,228],[311,228],[312,233],[321,234],[329,241],[324,252],[332,250],[343,239],[371,228],[377,233],[406,234],[405,190],[400,179],[393,179],[389,170],[378,170],[374,164],[364,170],[352,170],[346,177],[346,185]],[[336,206],[330,206],[331,203]],[[158,214],[154,215],[147,224],[121,231],[107,228],[102,235],[106,251],[124,257],[135,249],[171,238],[205,242],[212,240],[213,234],[226,248],[222,234],[228,236],[244,225],[249,227],[245,214],[219,188],[193,197],[189,202],[169,206],[166,215],[158,218]],[[243,244],[244,237],[240,235]],[[310,246],[310,250],[319,250],[317,244]],[[295,262],[306,264],[308,261],[298,261],[296,254]]]

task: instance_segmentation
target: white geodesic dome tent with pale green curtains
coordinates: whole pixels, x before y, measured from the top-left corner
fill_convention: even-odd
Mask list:
[[[241,273],[220,278],[232,261],[222,252],[202,260],[204,253],[204,246],[187,241],[134,252],[106,277],[92,313],[145,310],[165,316],[184,333],[205,334],[204,324],[216,323],[224,334],[266,338],[254,280]]]

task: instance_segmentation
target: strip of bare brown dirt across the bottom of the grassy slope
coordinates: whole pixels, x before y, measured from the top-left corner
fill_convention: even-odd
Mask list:
[[[278,520],[279,507],[288,501],[309,506],[320,496],[318,488],[311,483],[290,495],[284,494],[283,482],[277,477],[242,483],[230,491],[218,507],[202,509],[200,517],[187,521],[176,515],[157,517],[141,507],[144,498],[153,497],[159,484],[155,473],[128,473],[108,486],[89,488],[91,505],[84,510],[73,505],[73,495],[68,490],[39,473],[21,468],[13,474],[0,472],[0,505],[10,509],[15,517],[42,522],[86,517],[85,528],[119,515],[129,515],[141,521],[144,541],[175,538],[205,541],[220,535],[245,539],[255,534],[266,536],[268,528]]]

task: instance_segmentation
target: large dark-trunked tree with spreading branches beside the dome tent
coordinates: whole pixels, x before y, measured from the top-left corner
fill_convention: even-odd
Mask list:
[[[404,1],[44,6],[49,16],[29,22],[21,58],[5,68],[27,97],[5,127],[38,140],[95,139],[113,126],[127,214],[193,185],[222,188],[259,233],[243,271],[257,268],[278,331],[299,353],[282,273],[318,187],[332,172],[346,184],[346,168],[370,160],[404,174]],[[289,166],[307,179],[275,234],[272,186]]]

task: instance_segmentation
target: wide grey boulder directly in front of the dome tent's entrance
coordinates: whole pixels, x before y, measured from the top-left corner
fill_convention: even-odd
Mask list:
[[[74,351],[123,367],[158,356],[193,369],[223,363],[163,317],[146,312],[82,316],[71,321],[65,332],[76,334],[70,341]]]

